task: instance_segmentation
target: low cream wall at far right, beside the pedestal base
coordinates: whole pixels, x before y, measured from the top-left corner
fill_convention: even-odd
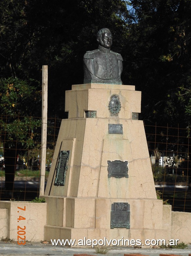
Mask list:
[[[171,239],[191,243],[191,213],[172,212]]]

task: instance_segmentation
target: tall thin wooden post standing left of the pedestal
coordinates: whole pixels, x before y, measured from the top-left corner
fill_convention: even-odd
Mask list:
[[[42,135],[41,135],[41,161],[40,161],[40,194],[45,192],[45,170],[47,151],[47,109],[48,109],[48,66],[42,66]]]

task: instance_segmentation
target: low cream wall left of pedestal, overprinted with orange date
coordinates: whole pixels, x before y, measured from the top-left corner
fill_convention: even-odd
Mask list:
[[[3,230],[2,236],[20,242],[44,240],[47,203],[0,201],[0,208],[1,212],[7,209],[8,231],[6,233],[6,230]],[[6,223],[5,218],[1,222]]]

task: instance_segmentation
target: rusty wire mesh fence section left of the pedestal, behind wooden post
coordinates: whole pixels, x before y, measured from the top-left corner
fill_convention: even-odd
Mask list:
[[[61,119],[48,118],[46,179]],[[41,118],[0,116],[0,200],[30,201],[39,196]]]

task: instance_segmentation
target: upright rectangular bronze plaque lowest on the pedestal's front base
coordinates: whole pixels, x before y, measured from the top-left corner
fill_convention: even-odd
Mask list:
[[[111,205],[110,228],[130,229],[130,205],[128,203],[113,203]]]

